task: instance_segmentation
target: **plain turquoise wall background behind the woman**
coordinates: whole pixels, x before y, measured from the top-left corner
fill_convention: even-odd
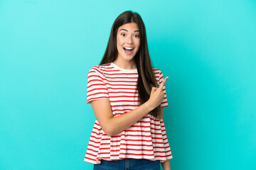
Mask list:
[[[87,72],[137,11],[166,81],[171,169],[256,169],[256,2],[0,1],[0,169],[92,169]]]

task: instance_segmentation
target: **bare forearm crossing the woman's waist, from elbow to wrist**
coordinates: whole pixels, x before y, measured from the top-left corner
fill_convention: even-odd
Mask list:
[[[146,103],[144,103],[132,111],[110,118],[107,123],[107,135],[116,135],[117,133],[126,130],[127,128],[137,123],[137,121],[141,120],[144,117],[144,115],[149,113],[151,110],[152,109],[149,108],[148,105],[146,105]]]

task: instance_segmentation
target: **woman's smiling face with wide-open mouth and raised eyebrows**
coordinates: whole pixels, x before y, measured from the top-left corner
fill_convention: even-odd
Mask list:
[[[137,23],[126,23],[117,30],[117,58],[131,61],[139,50],[139,27]]]

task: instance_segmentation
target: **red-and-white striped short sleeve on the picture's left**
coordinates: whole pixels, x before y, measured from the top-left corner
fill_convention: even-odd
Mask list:
[[[87,80],[86,103],[90,104],[90,101],[109,98],[107,86],[105,85],[104,79],[104,75],[99,72],[96,67],[90,69]]]

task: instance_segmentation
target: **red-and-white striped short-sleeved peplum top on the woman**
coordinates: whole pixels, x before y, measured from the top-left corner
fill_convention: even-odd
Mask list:
[[[157,83],[161,84],[164,80],[162,72],[154,68],[154,74]],[[109,99],[114,116],[132,111],[139,106],[137,79],[137,69],[122,69],[113,62],[95,66],[88,73],[87,103]],[[165,86],[163,90],[161,107],[166,107]],[[127,130],[111,137],[95,120],[84,161],[100,164],[101,159],[126,158],[160,160],[161,163],[172,158],[162,119],[148,113]]]

